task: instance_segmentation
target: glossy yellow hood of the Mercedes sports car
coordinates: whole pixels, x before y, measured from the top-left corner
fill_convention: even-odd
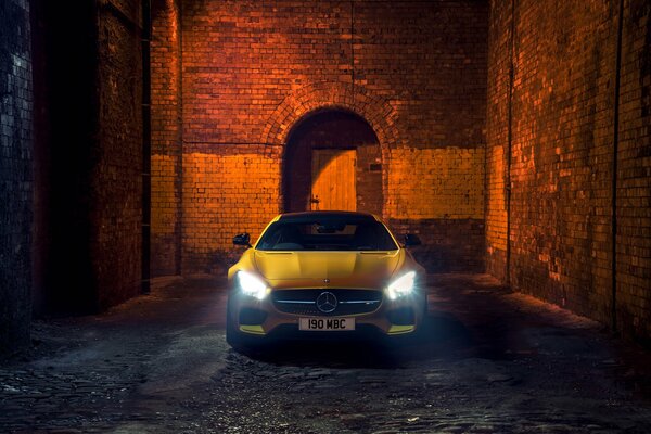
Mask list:
[[[379,288],[403,261],[403,251],[255,252],[256,268],[276,288]]]

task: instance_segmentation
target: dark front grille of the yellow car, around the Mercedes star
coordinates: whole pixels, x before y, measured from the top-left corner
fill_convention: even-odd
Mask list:
[[[331,312],[323,312],[317,307],[317,298],[324,292],[336,297],[337,304]],[[342,316],[369,314],[382,304],[382,291],[376,290],[277,290],[271,293],[273,306],[285,314],[309,316]]]

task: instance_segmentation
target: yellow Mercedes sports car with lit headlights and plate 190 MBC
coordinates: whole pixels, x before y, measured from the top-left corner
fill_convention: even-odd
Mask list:
[[[226,336],[235,349],[271,336],[413,334],[426,312],[424,269],[375,216],[281,214],[228,271]]]

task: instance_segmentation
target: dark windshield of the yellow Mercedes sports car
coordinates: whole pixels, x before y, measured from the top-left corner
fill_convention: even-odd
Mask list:
[[[391,234],[375,220],[276,221],[265,231],[259,251],[395,251]]]

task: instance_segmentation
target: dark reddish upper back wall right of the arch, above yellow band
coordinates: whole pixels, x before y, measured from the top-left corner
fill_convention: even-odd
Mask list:
[[[355,1],[356,86],[397,112],[400,145],[481,148],[487,8],[482,1]]]

